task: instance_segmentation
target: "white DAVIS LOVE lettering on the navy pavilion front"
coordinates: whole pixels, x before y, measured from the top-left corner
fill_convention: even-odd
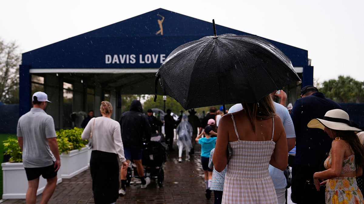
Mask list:
[[[140,64],[158,64],[166,59],[165,54],[139,54]],[[105,54],[105,64],[135,64],[137,56],[135,54]]]

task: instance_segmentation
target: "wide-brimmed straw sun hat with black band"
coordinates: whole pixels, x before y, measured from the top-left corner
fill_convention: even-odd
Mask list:
[[[315,118],[307,124],[307,127],[320,128],[322,130],[327,127],[332,130],[351,130],[356,133],[363,131],[356,126],[355,123],[349,121],[349,115],[340,109],[329,110],[323,119]]]

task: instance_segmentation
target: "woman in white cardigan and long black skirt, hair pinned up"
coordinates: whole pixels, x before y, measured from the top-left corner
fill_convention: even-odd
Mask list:
[[[90,139],[92,132],[92,153],[90,171],[95,204],[115,203],[119,197],[119,166],[127,168],[124,157],[120,124],[110,118],[112,105],[101,102],[102,117],[92,118],[82,132],[82,139]]]

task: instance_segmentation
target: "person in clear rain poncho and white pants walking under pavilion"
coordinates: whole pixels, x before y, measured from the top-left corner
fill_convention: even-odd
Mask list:
[[[192,126],[187,120],[187,115],[183,114],[182,121],[178,124],[176,128],[176,134],[178,135],[177,145],[178,145],[178,162],[182,162],[182,151],[183,147],[186,148],[186,161],[190,159],[189,152],[192,148],[191,138],[192,138]]]

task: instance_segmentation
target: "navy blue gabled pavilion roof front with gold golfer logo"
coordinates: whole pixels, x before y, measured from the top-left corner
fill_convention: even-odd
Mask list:
[[[163,35],[157,33],[162,19]],[[216,30],[218,35],[252,35],[218,24]],[[207,22],[159,8],[23,53],[22,64],[30,69],[159,68],[179,45],[212,35],[212,19]],[[281,49],[293,66],[308,65],[307,50],[264,39]]]

